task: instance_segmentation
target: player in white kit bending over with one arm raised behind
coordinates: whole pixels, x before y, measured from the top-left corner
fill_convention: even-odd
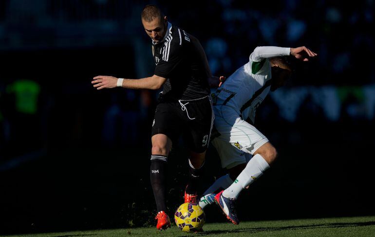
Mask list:
[[[212,144],[229,174],[218,178],[206,190],[199,205],[204,208],[216,200],[234,224],[239,224],[234,205],[238,195],[262,176],[277,157],[275,147],[252,124],[256,109],[268,92],[281,87],[290,78],[292,69],[286,56],[308,61],[317,54],[304,46],[257,47],[249,62],[226,79],[215,94],[214,124],[219,136]],[[225,190],[215,195],[220,188]]]

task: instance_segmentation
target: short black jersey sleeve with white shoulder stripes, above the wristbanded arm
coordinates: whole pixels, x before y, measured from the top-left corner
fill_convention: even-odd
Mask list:
[[[174,40],[174,39],[172,39]],[[161,59],[155,67],[154,74],[162,78],[169,78],[173,70],[183,61],[183,46],[170,40],[161,50]],[[177,40],[177,39],[176,39]]]

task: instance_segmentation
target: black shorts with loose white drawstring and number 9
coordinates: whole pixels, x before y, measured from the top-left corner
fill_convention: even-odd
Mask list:
[[[202,99],[170,101],[161,99],[156,106],[151,136],[165,134],[173,142],[183,135],[190,151],[206,151],[214,113],[210,96]]]

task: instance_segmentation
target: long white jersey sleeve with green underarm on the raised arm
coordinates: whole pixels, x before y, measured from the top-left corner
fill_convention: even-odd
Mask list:
[[[269,58],[278,56],[288,56],[290,48],[275,47],[275,46],[261,46],[256,47],[251,53],[249,61],[251,62],[251,73],[260,74],[264,64],[268,62]]]

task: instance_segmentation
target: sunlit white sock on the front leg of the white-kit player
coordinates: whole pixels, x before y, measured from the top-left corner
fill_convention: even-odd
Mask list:
[[[238,195],[255,181],[257,178],[261,177],[263,172],[269,168],[269,164],[262,158],[261,155],[257,154],[247,163],[241,174],[234,180],[234,182],[224,190],[223,196],[230,198],[237,198]]]

